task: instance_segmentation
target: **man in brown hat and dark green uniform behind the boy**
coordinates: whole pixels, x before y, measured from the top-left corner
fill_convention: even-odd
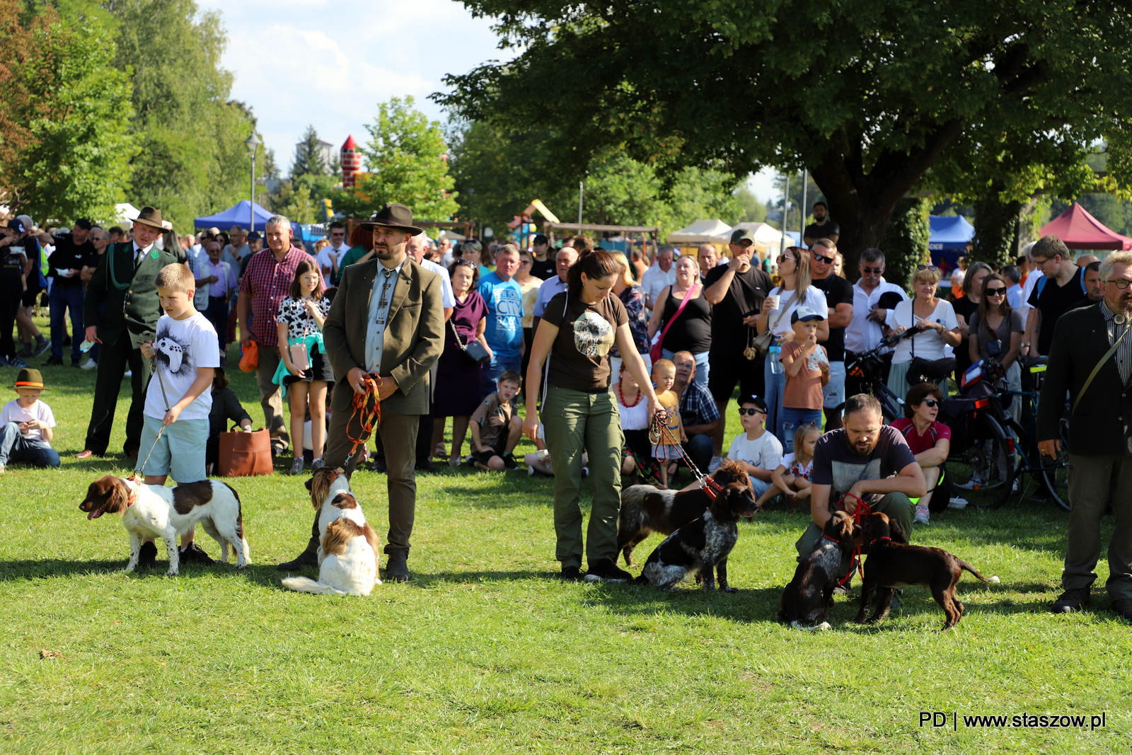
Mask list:
[[[149,360],[142,355],[140,345],[153,338],[162,314],[154,281],[165,265],[185,264],[186,260],[179,243],[173,249],[157,248],[157,239],[164,231],[161,211],[143,207],[134,221],[134,240],[106,247],[86,286],[83,299],[86,340],[101,343],[102,348],[86,444],[76,458],[105,455],[114,427],[118,392],[127,369],[132,371],[132,398],[126,415],[122,449],[137,458],[142,445],[142,410],[149,383]]]

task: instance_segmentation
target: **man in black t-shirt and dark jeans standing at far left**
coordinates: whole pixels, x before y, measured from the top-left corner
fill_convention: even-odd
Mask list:
[[[79,346],[86,340],[83,328],[83,268],[97,255],[91,243],[91,221],[75,221],[70,235],[55,241],[55,250],[48,257],[48,277],[51,284],[51,358],[46,364],[63,363],[63,338],[67,336],[67,310],[71,319],[71,367],[78,367],[83,353]]]

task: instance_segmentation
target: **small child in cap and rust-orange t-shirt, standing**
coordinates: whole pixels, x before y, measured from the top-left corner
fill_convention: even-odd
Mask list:
[[[794,432],[803,424],[822,423],[822,387],[830,381],[830,360],[825,346],[817,345],[817,324],[825,317],[809,307],[790,315],[790,333],[782,342],[782,444],[794,451]]]

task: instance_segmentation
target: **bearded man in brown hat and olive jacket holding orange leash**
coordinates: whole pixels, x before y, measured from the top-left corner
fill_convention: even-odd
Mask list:
[[[350,438],[363,436],[351,401],[366,392],[367,375],[380,376],[378,432],[385,446],[389,496],[385,544],[389,560],[384,577],[408,582],[409,539],[417,506],[417,431],[420,415],[429,410],[429,370],[444,351],[443,289],[439,275],[408,255],[410,237],[423,233],[413,225],[409,207],[386,204],[361,228],[374,233],[374,257],[342,271],[337,295],[323,326],[335,378],[324,458],[327,466],[344,466],[346,474],[353,473],[361,446],[349,456],[353,446]],[[315,517],[307,549],[277,568],[316,565],[317,552]]]

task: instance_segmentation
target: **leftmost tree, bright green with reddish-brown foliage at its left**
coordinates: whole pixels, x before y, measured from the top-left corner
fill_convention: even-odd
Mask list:
[[[0,191],[68,224],[112,216],[134,153],[130,84],[110,65],[105,19],[74,16],[0,0]]]

